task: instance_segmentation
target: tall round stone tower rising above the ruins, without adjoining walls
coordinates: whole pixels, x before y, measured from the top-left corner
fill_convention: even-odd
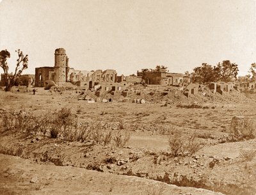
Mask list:
[[[67,81],[68,74],[68,57],[65,49],[58,48],[55,50],[55,64],[54,64],[54,72],[55,72],[55,83],[58,85],[65,84]]]

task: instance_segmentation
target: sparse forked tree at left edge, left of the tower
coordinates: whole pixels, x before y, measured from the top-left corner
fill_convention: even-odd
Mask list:
[[[9,74],[9,66],[7,64],[7,58],[10,58],[10,52],[7,50],[2,50],[0,52],[0,66],[4,70],[4,84],[5,91],[10,91],[12,86],[15,84],[15,79],[22,74],[22,71],[28,68],[28,55],[24,56],[23,52],[18,49],[17,52],[19,58],[17,59],[17,64],[14,74]],[[22,67],[20,66],[22,65]]]

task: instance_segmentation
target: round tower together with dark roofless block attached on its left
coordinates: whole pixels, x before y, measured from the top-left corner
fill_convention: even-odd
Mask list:
[[[45,82],[47,81],[54,81],[58,85],[65,84],[68,81],[68,56],[65,49],[56,49],[54,55],[54,67],[44,66],[36,68],[36,87],[46,86]]]

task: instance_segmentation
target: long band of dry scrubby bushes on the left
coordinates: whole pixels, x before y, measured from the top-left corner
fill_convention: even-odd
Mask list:
[[[92,144],[110,144],[122,147],[128,143],[130,134],[124,130],[120,122],[119,129],[111,130],[111,125],[102,121],[81,123],[77,114],[72,114],[70,108],[44,113],[38,116],[20,110],[4,113],[1,131],[24,132],[51,138],[61,138],[66,141],[92,142]]]

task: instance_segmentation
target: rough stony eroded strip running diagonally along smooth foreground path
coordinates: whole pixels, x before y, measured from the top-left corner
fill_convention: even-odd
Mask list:
[[[253,187],[240,187],[236,184],[223,183],[219,181],[213,182],[211,180],[207,180],[207,178],[196,178],[193,176],[182,175],[172,170],[166,171],[164,175],[159,174],[150,176],[147,171],[132,171],[132,169],[125,168],[125,166],[127,167],[129,165],[129,160],[124,163],[124,166],[120,166],[123,164],[116,166],[115,160],[113,162],[103,163],[103,161],[99,160],[98,157],[93,157],[93,148],[90,145],[85,146],[80,143],[78,145],[72,145],[70,143],[63,143],[62,141],[56,141],[53,139],[38,141],[38,143],[29,143],[29,139],[26,141],[19,140],[6,143],[7,140],[8,139],[0,142],[0,153],[5,155],[15,155],[24,159],[33,159],[37,162],[52,162],[56,166],[74,166],[77,168],[93,169],[101,172],[108,171],[109,173],[119,175],[138,176],[180,187],[202,188],[228,195],[255,194],[255,189]],[[102,150],[102,152],[108,152],[108,150],[109,153],[115,152],[113,148],[104,148],[105,149]],[[125,149],[124,153],[129,153],[129,150],[129,148]],[[72,157],[70,157],[70,152],[72,153]],[[100,152],[98,152],[98,156],[99,155]],[[140,163],[143,164],[143,161]],[[109,170],[112,169],[109,168],[109,164],[113,164],[113,166],[116,166],[117,168],[113,171]],[[152,171],[154,172],[154,169]]]

